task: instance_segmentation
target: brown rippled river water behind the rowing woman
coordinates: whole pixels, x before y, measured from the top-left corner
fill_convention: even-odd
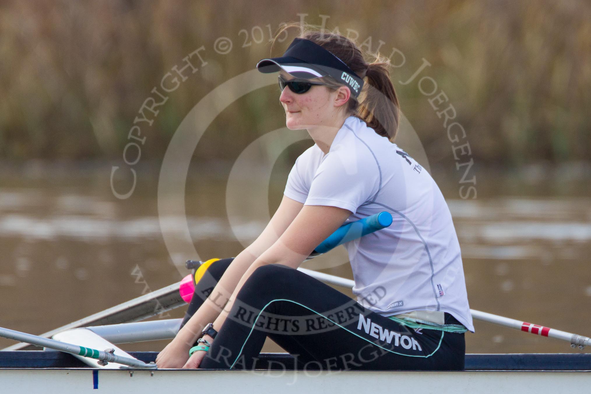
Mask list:
[[[44,333],[188,273],[173,260],[193,256],[175,255],[164,243],[158,172],[144,173],[133,196],[119,200],[109,186],[110,167],[0,171],[0,327]],[[286,177],[285,171],[271,177],[264,196],[271,210]],[[186,218],[200,259],[236,255],[242,248],[238,239],[252,239],[265,224],[256,217],[230,223],[226,206],[236,205],[240,196],[226,202],[226,178],[223,168],[193,168],[187,180]],[[470,307],[591,336],[589,180],[584,187],[572,180],[538,177],[527,183],[522,177],[479,174],[478,198],[462,200],[457,180],[434,178],[454,218]],[[252,201],[245,196],[239,204],[249,210]],[[169,227],[184,223],[176,216],[164,220]],[[342,247],[305,266],[352,278]],[[183,314],[179,308],[170,317]],[[468,353],[580,352],[568,343],[489,323],[475,321],[475,328],[466,335]],[[0,338],[0,349],[14,343]],[[166,343],[121,347],[161,350]],[[278,350],[265,344],[264,351]]]

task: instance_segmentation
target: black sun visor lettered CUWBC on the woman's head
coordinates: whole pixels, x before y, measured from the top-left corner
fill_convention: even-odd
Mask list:
[[[338,57],[305,38],[295,38],[281,57],[263,59],[256,64],[261,73],[286,73],[301,79],[331,76],[349,87],[355,97],[361,93],[363,80]]]

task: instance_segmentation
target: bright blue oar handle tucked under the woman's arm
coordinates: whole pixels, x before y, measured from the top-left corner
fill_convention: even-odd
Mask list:
[[[373,233],[375,231],[384,229],[392,224],[392,215],[388,212],[376,213],[372,216],[364,217],[356,222],[343,224],[320,245],[316,246],[312,255],[326,253],[330,249],[334,249],[345,242],[353,239],[361,238],[362,236]]]

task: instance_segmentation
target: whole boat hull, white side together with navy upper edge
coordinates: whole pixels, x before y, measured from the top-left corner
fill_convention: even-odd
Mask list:
[[[144,362],[157,352],[129,352]],[[392,393],[396,386],[419,393],[588,393],[591,354],[467,354],[466,370],[327,371],[285,370],[285,353],[261,354],[261,369],[93,369],[59,351],[0,351],[2,393],[181,392],[215,393]]]

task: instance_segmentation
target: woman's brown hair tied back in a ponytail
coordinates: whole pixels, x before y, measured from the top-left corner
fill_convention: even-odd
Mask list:
[[[346,111],[350,115],[363,119],[379,135],[394,141],[400,112],[398,97],[388,70],[390,60],[378,53],[371,54],[375,60],[368,63],[361,49],[349,38],[302,22],[284,25],[275,34],[272,43],[275,43],[281,32],[292,27],[300,30],[298,37],[313,41],[334,54],[364,80],[359,98],[355,99],[351,96]],[[324,82],[328,83],[329,89],[342,86],[330,77],[324,77]]]

